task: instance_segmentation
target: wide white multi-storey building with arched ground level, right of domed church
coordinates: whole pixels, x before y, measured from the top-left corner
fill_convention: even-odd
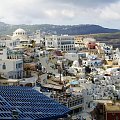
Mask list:
[[[74,51],[75,50],[75,42],[74,36],[68,35],[52,35],[45,36],[45,46],[46,48],[58,48],[62,51]]]

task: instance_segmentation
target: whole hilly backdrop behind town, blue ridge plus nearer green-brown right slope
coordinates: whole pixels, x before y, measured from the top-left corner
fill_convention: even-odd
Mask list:
[[[68,34],[68,35],[88,35],[90,34],[97,41],[111,44],[120,48],[120,30],[104,28],[99,25],[10,25],[0,22],[0,35],[10,34],[18,29],[23,28],[28,34],[41,30],[44,34]]]

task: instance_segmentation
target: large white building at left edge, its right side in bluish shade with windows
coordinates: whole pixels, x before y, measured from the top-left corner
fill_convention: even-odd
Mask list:
[[[0,46],[0,73],[6,78],[22,78],[23,60],[18,59],[19,54],[10,54],[10,51],[7,47]]]

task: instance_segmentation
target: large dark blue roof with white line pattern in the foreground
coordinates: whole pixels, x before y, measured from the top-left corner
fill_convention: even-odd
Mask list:
[[[0,86],[0,119],[12,119],[13,110],[18,111],[18,119],[27,120],[56,119],[70,111],[32,88]]]

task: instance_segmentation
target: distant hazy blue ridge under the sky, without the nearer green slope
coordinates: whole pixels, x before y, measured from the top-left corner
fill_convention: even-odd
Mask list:
[[[10,25],[0,22],[0,34],[12,34],[16,29],[23,28],[28,33],[35,32],[35,30],[41,30],[41,33],[45,34],[68,34],[68,35],[80,35],[80,34],[96,34],[96,33],[114,33],[119,32],[117,29],[104,28],[99,25]]]

